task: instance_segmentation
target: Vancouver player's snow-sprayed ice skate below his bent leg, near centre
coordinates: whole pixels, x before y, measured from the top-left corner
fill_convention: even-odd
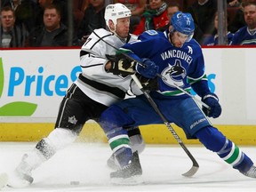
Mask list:
[[[136,185],[142,182],[140,176],[142,169],[140,165],[140,158],[138,152],[134,152],[132,160],[129,164],[125,165],[122,169],[111,172],[111,182],[119,185]]]

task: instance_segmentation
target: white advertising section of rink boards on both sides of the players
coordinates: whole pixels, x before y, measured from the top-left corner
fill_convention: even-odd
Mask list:
[[[79,52],[0,51],[0,123],[54,123],[62,97],[81,72]],[[222,107],[212,123],[256,124],[256,49],[203,52],[210,89]]]

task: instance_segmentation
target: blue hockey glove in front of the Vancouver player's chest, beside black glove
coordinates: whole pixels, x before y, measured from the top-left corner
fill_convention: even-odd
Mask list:
[[[141,59],[144,66],[141,66],[140,64],[136,64],[136,71],[144,77],[147,78],[155,78],[156,74],[158,73],[159,67],[156,66],[155,62],[148,60],[148,59]]]

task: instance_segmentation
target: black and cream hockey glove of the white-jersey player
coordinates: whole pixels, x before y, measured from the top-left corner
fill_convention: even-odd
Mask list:
[[[108,72],[117,76],[129,76],[134,74],[136,62],[124,57],[122,54],[106,55],[107,59],[111,61],[111,67]]]

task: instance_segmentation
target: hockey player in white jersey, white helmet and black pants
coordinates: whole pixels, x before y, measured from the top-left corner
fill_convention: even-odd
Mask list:
[[[106,7],[105,20],[109,30],[95,29],[82,46],[82,73],[69,87],[60,103],[55,129],[40,140],[34,150],[22,157],[20,164],[9,174],[8,186],[20,188],[31,184],[32,171],[50,159],[60,148],[65,148],[76,140],[87,120],[93,119],[97,122],[103,110],[116,101],[124,100],[131,76],[108,73],[105,65],[110,62],[106,55],[114,55],[115,47],[119,48],[137,39],[137,36],[129,34],[130,16],[131,11],[123,4],[109,4]],[[131,130],[133,133],[130,140],[136,140],[137,143],[134,150],[143,150],[144,141],[139,128]],[[139,159],[137,163],[140,167]]]

